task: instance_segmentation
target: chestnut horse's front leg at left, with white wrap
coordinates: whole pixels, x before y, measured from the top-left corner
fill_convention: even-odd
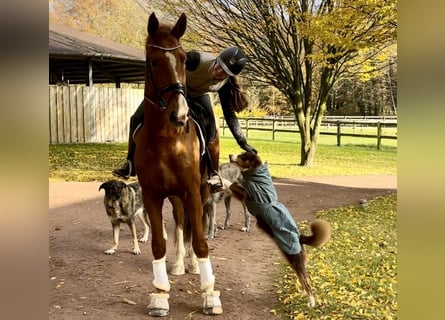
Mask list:
[[[148,305],[148,314],[152,317],[163,317],[168,315],[170,295],[170,282],[168,281],[166,252],[167,244],[163,234],[162,204],[163,199],[150,197],[149,193],[143,193],[144,206],[148,211],[148,217],[151,224],[151,251],[154,260],[153,266],[153,285],[156,292],[150,294],[150,303]]]

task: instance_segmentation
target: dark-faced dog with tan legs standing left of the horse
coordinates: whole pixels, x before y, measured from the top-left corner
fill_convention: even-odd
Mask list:
[[[135,219],[138,217],[144,225],[144,235],[139,242],[147,242],[150,225],[142,203],[142,190],[139,183],[126,184],[118,180],[109,180],[100,185],[99,191],[105,190],[104,206],[113,227],[113,246],[105,250],[105,254],[113,254],[119,245],[121,222],[130,227],[133,238],[133,253],[140,254]]]

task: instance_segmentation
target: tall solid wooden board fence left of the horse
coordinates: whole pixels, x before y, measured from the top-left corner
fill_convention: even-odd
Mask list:
[[[126,142],[143,89],[49,86],[49,142]]]

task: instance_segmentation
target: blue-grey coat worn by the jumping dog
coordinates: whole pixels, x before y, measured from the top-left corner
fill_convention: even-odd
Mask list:
[[[244,178],[242,184],[248,194],[246,206],[249,212],[263,218],[272,229],[278,246],[285,253],[300,253],[300,232],[289,210],[278,201],[267,164],[241,173]]]

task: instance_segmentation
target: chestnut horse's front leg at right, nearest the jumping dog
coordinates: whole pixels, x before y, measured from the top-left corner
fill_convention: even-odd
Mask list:
[[[205,314],[221,314],[223,312],[220,292],[215,291],[215,276],[212,270],[212,264],[209,258],[209,248],[204,238],[202,215],[203,206],[201,196],[190,195],[189,199],[184,201],[185,209],[190,217],[192,227],[192,245],[198,258],[199,274],[201,280],[201,290],[204,291],[203,312]]]

